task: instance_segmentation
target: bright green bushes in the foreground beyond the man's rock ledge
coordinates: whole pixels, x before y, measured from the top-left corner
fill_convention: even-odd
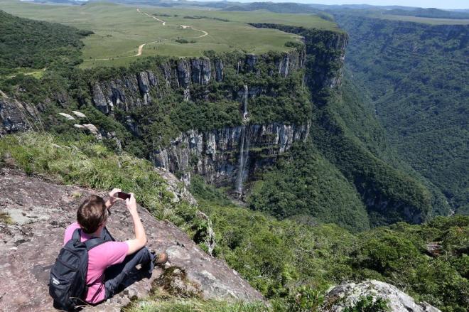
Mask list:
[[[352,234],[337,225],[279,221],[239,208],[200,178],[193,179],[192,191],[213,222],[217,257],[268,298],[288,304],[301,291],[298,285],[323,291],[345,280],[378,279],[442,311],[465,311],[468,217]],[[427,246],[433,242],[434,254]]]

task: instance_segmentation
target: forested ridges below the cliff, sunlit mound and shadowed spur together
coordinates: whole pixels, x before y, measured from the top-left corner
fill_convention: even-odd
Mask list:
[[[448,213],[443,195],[395,155],[355,85],[346,79],[325,101],[313,109],[311,142],[254,183],[251,208],[351,230]]]

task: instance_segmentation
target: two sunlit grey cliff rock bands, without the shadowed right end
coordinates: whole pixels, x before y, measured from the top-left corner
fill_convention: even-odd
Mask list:
[[[182,96],[184,101],[210,101],[209,88],[225,82],[227,68],[235,72],[234,77],[239,77],[239,81],[244,81],[242,77],[261,75],[276,75],[283,79],[303,70],[305,64],[304,48],[289,53],[238,55],[234,60],[217,56],[183,58],[158,63],[151,70],[93,82],[90,89],[95,107],[110,116],[114,116],[117,108],[124,111],[127,113],[126,127],[139,136],[139,122],[131,118],[133,109],[175,94]],[[186,177],[190,172],[199,173],[207,181],[217,184],[236,181],[242,184],[258,168],[273,164],[293,142],[308,137],[311,125],[308,118],[302,124],[251,124],[247,102],[259,96],[276,97],[277,94],[269,91],[265,83],[245,84],[241,88],[238,85],[239,82],[226,82],[224,88],[229,90],[225,90],[224,97],[240,102],[243,124],[209,131],[183,131],[168,146],[161,145],[155,138],[149,155],[155,165],[184,173]]]

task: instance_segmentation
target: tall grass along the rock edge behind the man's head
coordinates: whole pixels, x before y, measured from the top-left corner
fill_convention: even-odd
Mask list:
[[[174,203],[166,182],[149,161],[115,154],[92,136],[68,141],[51,134],[28,132],[0,139],[0,166],[14,166],[28,174],[97,190],[121,188],[135,193],[141,205],[160,219],[181,226],[195,215],[188,203]],[[176,211],[184,210],[184,217]]]

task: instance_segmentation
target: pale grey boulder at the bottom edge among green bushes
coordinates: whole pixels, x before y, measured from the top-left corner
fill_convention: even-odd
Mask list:
[[[358,301],[367,296],[372,296],[374,301],[377,298],[384,299],[387,301],[389,311],[392,312],[441,312],[426,302],[416,303],[411,296],[396,286],[374,280],[335,286],[326,294],[320,311],[341,312],[346,307],[354,307]]]

